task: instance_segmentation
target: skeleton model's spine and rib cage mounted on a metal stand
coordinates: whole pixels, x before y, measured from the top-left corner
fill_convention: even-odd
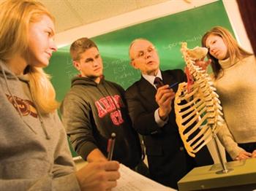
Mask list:
[[[189,50],[187,43],[182,43],[181,52],[193,83],[178,85],[174,101],[176,122],[188,154],[195,157],[195,153],[211,141],[224,120],[214,83],[206,71],[194,64],[195,60],[204,58],[208,50],[203,47]]]

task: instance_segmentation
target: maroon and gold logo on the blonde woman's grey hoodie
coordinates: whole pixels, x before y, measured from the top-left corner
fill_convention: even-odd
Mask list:
[[[15,98],[15,101],[18,104],[18,106],[15,103],[15,101],[13,100],[13,98]],[[23,116],[30,114],[32,117],[37,118],[37,109],[33,102],[31,102],[29,100],[24,100],[24,99],[18,98],[16,96],[13,96],[13,98],[11,95],[7,95],[7,99],[10,101],[12,106],[15,107],[17,112],[18,112],[18,108],[19,108],[20,112]]]

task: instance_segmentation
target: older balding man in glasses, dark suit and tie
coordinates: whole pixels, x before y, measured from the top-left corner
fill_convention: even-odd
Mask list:
[[[143,136],[151,179],[177,188],[177,182],[192,168],[213,163],[208,149],[198,160],[190,157],[178,133],[173,98],[178,86],[186,81],[181,69],[161,71],[159,55],[146,39],[135,39],[129,47],[131,65],[142,77],[126,91],[133,127]]]

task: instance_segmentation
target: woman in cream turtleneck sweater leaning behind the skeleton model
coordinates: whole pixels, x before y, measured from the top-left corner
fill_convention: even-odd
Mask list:
[[[233,160],[256,157],[256,61],[227,29],[217,26],[202,38],[214,72],[227,126],[219,139]],[[228,159],[228,158],[227,158]]]

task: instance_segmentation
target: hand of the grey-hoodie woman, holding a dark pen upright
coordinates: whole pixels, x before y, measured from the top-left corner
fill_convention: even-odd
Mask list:
[[[120,178],[117,161],[88,163],[75,173],[81,190],[105,191],[116,187]]]

